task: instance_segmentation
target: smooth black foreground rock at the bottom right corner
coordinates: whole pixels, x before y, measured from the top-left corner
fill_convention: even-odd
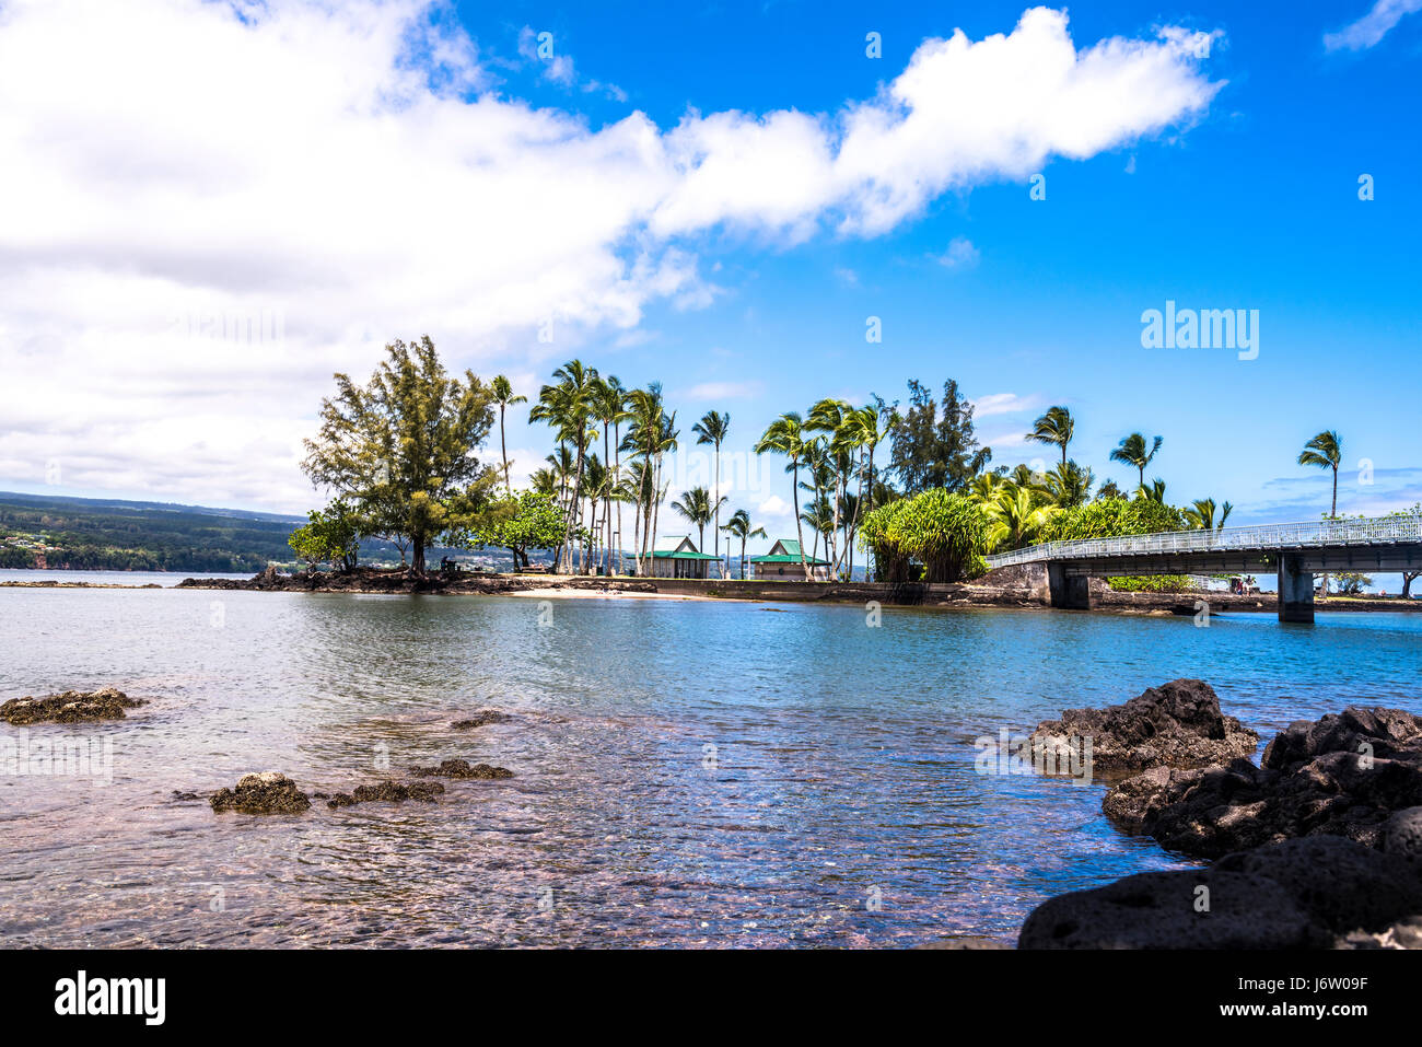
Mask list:
[[[1018,947],[1399,947],[1419,920],[1418,866],[1310,836],[1226,855],[1207,869],[1143,872],[1059,895],[1027,918]]]

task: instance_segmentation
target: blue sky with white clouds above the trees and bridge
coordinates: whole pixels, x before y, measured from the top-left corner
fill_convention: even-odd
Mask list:
[[[1089,90],[1014,102],[998,55],[1061,54],[1031,50],[1049,33],[1014,34],[1022,4],[282,1],[246,24],[191,7],[145,0],[112,24],[94,9],[80,38],[28,4],[0,20],[0,102],[18,114],[0,135],[31,161],[0,188],[34,222],[0,232],[0,354],[20,378],[0,394],[6,488],[300,509],[319,501],[296,461],[330,373],[428,331],[451,364],[530,398],[572,357],[660,380],[684,435],[728,411],[742,461],[782,411],[951,377],[994,464],[1049,458],[1021,434],[1061,403],[1098,481],[1133,481],[1108,461],[1121,437],[1160,434],[1150,472],[1169,496],[1229,499],[1236,524],[1327,508],[1328,478],[1294,464],[1322,428],[1344,438],[1341,511],[1422,499],[1422,14],[1384,33],[1368,0],[1072,6],[1061,83]],[[1209,55],[1160,50],[1163,27]],[[893,142],[872,138],[840,162],[846,114],[956,30],[970,48],[1014,36],[919,85],[909,108],[939,121],[919,148],[876,156]],[[1125,50],[1091,71],[1109,38]],[[75,75],[24,67],[47,48]],[[1038,118],[1052,107],[1061,121]],[[768,117],[785,111],[803,119]],[[998,111],[1007,144],[988,141]],[[785,164],[764,161],[785,144]],[[853,171],[816,161],[820,145]],[[761,166],[737,168],[751,155]],[[718,156],[745,181],[725,189]],[[1143,349],[1140,314],[1166,300],[1258,310],[1258,357]],[[195,344],[193,317],[233,309],[270,309],[280,337]],[[172,336],[173,317],[168,344],[154,324]],[[526,474],[549,434],[510,422]],[[728,494],[784,532],[789,485],[765,465]]]

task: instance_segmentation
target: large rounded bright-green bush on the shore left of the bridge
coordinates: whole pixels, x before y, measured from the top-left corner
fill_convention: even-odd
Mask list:
[[[987,532],[983,509],[944,488],[882,505],[860,528],[882,582],[957,582],[974,572]]]

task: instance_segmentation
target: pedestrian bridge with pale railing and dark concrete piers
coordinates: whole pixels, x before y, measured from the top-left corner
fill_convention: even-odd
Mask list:
[[[1422,570],[1422,516],[1325,519],[1220,531],[1044,542],[987,558],[990,568],[1042,563],[1054,607],[1089,607],[1089,578],[1278,575],[1278,620],[1314,620],[1314,575]]]

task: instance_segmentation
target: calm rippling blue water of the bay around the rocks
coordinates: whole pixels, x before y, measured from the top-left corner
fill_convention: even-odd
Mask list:
[[[0,945],[1012,940],[1048,895],[1180,862],[1112,829],[1101,785],[975,774],[974,738],[1176,676],[1261,731],[1422,711],[1411,615],[890,609],[869,629],[857,607],[545,606],[540,626],[516,597],[0,590],[0,698],[152,700],[27,728],[111,743],[112,784],[0,777]],[[449,728],[482,707],[513,720]],[[297,817],[171,797],[448,757],[516,777]]]

